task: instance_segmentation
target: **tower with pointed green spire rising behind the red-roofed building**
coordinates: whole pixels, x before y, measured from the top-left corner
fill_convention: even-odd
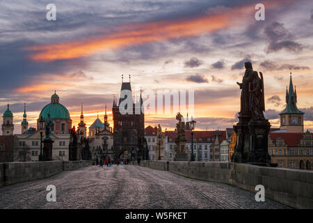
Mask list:
[[[297,92],[296,86],[292,84],[292,77],[290,72],[290,82],[289,91],[286,90],[286,108],[280,113],[280,130],[285,130],[286,132],[304,132],[303,126],[303,114],[296,103],[297,103]]]

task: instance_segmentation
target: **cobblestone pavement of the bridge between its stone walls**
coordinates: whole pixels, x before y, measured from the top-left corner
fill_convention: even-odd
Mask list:
[[[47,185],[56,202],[47,202]],[[0,208],[286,208],[223,183],[138,166],[85,167],[0,187]]]

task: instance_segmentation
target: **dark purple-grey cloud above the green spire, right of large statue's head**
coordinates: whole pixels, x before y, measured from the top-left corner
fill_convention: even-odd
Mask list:
[[[264,34],[269,40],[267,52],[277,52],[280,49],[287,49],[290,52],[300,52],[303,45],[296,43],[293,36],[284,24],[280,22],[272,22],[264,28]]]

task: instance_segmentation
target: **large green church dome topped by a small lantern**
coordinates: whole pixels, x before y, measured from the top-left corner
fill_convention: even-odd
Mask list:
[[[47,118],[48,114],[50,114],[51,119],[70,119],[70,112],[59,103],[59,97],[56,93],[51,96],[51,103],[41,110],[39,118],[40,116]]]

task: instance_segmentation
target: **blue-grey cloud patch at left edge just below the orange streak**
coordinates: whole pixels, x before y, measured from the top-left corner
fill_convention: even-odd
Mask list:
[[[88,62],[84,59],[71,59],[52,61],[49,63],[31,61],[29,52],[25,49],[34,45],[28,40],[19,40],[13,43],[0,44],[0,74],[6,81],[0,82],[1,95],[8,95],[13,89],[17,89],[47,75],[63,76],[65,72],[85,67]]]

